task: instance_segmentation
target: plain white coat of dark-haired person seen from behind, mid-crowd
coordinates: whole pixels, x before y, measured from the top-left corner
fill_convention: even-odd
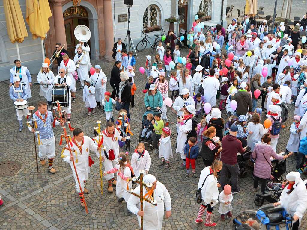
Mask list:
[[[208,76],[204,79],[202,86],[205,89],[204,97],[206,102],[209,102],[211,106],[215,106],[217,90],[220,89],[219,80],[215,76]]]

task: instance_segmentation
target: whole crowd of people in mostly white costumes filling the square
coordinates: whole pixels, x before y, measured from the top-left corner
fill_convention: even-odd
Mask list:
[[[129,109],[134,107],[134,92],[137,90],[135,72],[139,61],[135,60],[133,52],[127,52],[119,38],[113,47],[116,61],[108,78],[100,65],[91,69],[87,44],[78,44],[73,60],[63,49],[57,60],[58,75],[55,77],[48,64],[43,63],[37,77],[41,84],[40,95],[47,100],[47,103],[40,102],[35,113],[39,121],[36,129],[41,133],[41,165],[45,165],[45,158],[48,158],[49,171],[56,172],[52,166],[55,140],[51,124],[63,124],[53,122],[52,114],[48,115],[52,107],[52,85],[68,86],[69,103],[64,110],[67,120],[72,121],[71,104],[76,101],[77,73],[87,115],[95,113],[95,108],[105,112],[103,176],[107,180],[107,190],[113,192],[116,185],[118,201],[126,201],[129,212],[138,215],[139,221],[143,216],[144,229],[161,229],[164,206],[166,217],[171,216],[171,197],[166,187],[149,174],[151,164],[169,168],[173,155],[177,154],[181,158],[177,168],[185,170],[185,178],[198,178],[197,172],[200,172],[198,189],[201,190],[202,202],[195,222],[203,222],[202,216],[207,209],[204,225],[214,227],[216,223],[211,220],[211,215],[219,202],[221,220],[232,217],[233,195],[241,191],[237,156],[246,153],[250,153],[249,165],[254,167],[254,192],[264,192],[267,182],[275,179],[271,174],[271,159],[285,160],[294,153],[297,163],[291,170],[295,172],[287,175],[288,182],[278,204],[293,215],[293,220],[297,222],[292,229],[298,229],[307,208],[307,192],[301,186],[303,182],[300,178],[301,174],[307,173],[307,49],[306,40],[297,35],[306,30],[306,15],[301,25],[295,25],[289,32],[281,23],[274,25],[274,33],[271,33],[266,23],[264,20],[256,28],[245,16],[242,22],[233,19],[227,28],[216,25],[205,35],[197,19],[188,33],[187,56],[181,55],[176,44],[177,37],[172,30],[168,31],[165,44],[159,42],[154,57],[146,55],[145,62],[138,63],[145,65],[143,73],[148,82],[143,89],[145,113],[142,131],[131,161],[129,154],[125,153],[127,148],[130,150],[130,140],[126,136],[133,132]],[[223,49],[224,46],[226,49]],[[56,48],[60,50],[61,44],[57,43]],[[76,63],[79,64],[77,69]],[[15,60],[15,65],[11,69],[10,98],[22,102],[31,97],[32,79],[29,70],[21,66],[19,60]],[[112,87],[112,92],[107,91],[107,84]],[[138,88],[141,86],[138,85]],[[290,106],[295,106],[294,114],[289,113]],[[176,131],[168,127],[171,124],[167,118],[168,108],[177,113]],[[113,109],[126,115],[114,119]],[[16,111],[21,132],[23,116],[26,117],[29,111],[26,108]],[[226,113],[227,120],[222,118],[222,112]],[[287,119],[293,120],[290,137],[285,153],[278,154],[279,136],[288,135],[283,129]],[[197,120],[200,122],[197,123]],[[127,124],[124,129],[126,135],[122,133],[123,129],[119,129],[124,125],[122,122]],[[33,128],[29,127],[29,130],[34,132]],[[176,142],[170,138],[171,132],[177,132]],[[154,151],[149,153],[143,142],[152,143]],[[80,128],[73,131],[72,145],[76,147],[76,156],[70,156],[65,149],[62,158],[70,163],[75,179],[72,161],[78,159],[76,167],[81,178],[80,188],[87,194],[84,186],[89,173],[88,150],[99,157],[101,148],[84,136]],[[172,146],[176,146],[175,150]],[[150,155],[153,154],[161,160],[152,162]],[[198,158],[202,159],[204,169],[196,169]],[[153,185],[153,199],[158,201],[157,212],[147,202],[141,211],[139,198],[126,191],[127,181],[132,175],[138,177],[140,170],[146,174],[144,182]],[[227,184],[229,174],[230,185]],[[132,183],[128,186],[132,188]],[[220,194],[219,187],[222,190]],[[76,179],[76,190],[84,206],[80,188]],[[139,194],[139,188],[134,191]]]

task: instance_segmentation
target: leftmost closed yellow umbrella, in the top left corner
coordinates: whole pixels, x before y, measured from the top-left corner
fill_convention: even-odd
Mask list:
[[[3,0],[6,29],[12,43],[23,42],[28,36],[18,0]]]

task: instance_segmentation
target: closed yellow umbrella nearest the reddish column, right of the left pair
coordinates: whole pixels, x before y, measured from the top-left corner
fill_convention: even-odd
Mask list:
[[[48,18],[52,16],[48,0],[27,0],[26,6],[26,21],[33,39],[44,40],[50,29]]]

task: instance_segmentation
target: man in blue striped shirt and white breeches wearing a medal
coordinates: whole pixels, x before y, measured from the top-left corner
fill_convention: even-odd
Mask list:
[[[51,112],[48,113],[47,103],[38,102],[38,110],[33,114],[32,119],[36,119],[37,130],[39,131],[40,143],[38,145],[38,156],[40,158],[41,165],[45,165],[45,158],[48,158],[48,170],[52,174],[56,173],[56,170],[53,168],[53,159],[56,155],[56,141],[54,139],[52,123],[55,125],[64,125],[64,122],[54,121],[53,115]],[[35,132],[33,127],[29,126],[31,132]]]

